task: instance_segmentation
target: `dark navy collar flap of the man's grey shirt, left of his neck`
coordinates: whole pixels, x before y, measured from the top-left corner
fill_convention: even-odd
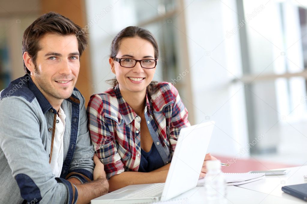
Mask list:
[[[32,81],[32,78],[29,79],[29,89],[33,92],[35,95],[39,105],[41,106],[41,110],[45,114],[48,110],[50,112],[56,114],[56,110],[51,106],[47,98],[41,93],[41,91],[37,88],[37,86]]]

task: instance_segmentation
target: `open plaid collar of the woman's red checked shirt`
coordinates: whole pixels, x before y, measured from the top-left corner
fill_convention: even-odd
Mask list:
[[[122,115],[125,123],[130,124],[134,120],[134,118],[137,117],[137,114],[134,112],[134,110],[129,106],[129,104],[122,97],[118,84],[114,87],[114,91],[115,91],[115,94],[116,94],[116,98],[119,102],[119,113]],[[148,100],[147,91],[146,91],[146,107],[147,107],[147,110],[149,111],[149,113],[153,114],[152,109],[150,107],[150,102]]]

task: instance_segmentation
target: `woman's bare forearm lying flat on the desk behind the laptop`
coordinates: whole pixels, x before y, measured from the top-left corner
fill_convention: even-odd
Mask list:
[[[110,178],[109,191],[115,191],[132,184],[164,183],[168,171],[167,169],[152,172],[122,172]]]

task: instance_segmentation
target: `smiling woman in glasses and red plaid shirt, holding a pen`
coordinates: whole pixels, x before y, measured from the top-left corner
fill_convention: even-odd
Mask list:
[[[92,95],[88,103],[91,140],[104,164],[109,191],[165,182],[180,129],[190,126],[177,89],[152,82],[158,56],[148,30],[123,29],[111,44],[114,87]],[[211,159],[207,154],[205,160]],[[203,167],[200,176],[205,173]]]

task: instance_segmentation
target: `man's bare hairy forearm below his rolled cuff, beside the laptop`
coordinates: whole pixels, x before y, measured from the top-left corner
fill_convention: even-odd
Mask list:
[[[109,183],[107,179],[97,179],[86,184],[76,184],[78,190],[77,203],[90,203],[91,199],[97,198],[109,191]]]

